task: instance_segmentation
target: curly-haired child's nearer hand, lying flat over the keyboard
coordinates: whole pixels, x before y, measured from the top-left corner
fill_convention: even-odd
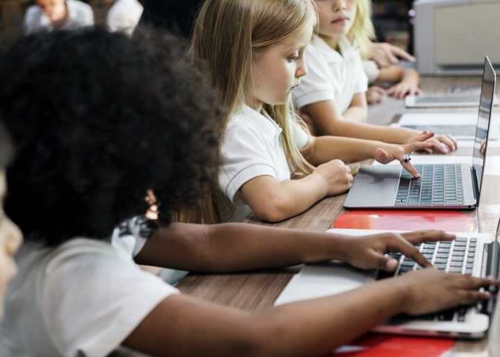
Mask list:
[[[493,279],[450,274],[435,269],[409,272],[386,283],[401,286],[401,292],[407,301],[402,312],[410,315],[422,315],[487,300],[491,297],[490,293],[478,290],[500,285],[499,281]]]

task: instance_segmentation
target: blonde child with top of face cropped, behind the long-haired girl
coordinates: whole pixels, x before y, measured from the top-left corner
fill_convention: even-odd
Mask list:
[[[308,75],[294,91],[294,102],[318,135],[380,140],[393,144],[422,141],[427,132],[361,123],[367,119],[368,56],[374,37],[369,0],[315,0],[318,34],[306,49]],[[428,152],[457,147],[449,135],[428,138]]]

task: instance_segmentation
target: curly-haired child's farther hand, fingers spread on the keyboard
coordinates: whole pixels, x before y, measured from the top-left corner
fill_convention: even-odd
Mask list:
[[[345,245],[344,261],[360,269],[383,269],[394,272],[398,262],[385,256],[389,252],[401,252],[422,267],[432,267],[424,256],[413,247],[422,242],[453,240],[455,235],[444,231],[416,231],[412,233],[381,233],[348,238]]]

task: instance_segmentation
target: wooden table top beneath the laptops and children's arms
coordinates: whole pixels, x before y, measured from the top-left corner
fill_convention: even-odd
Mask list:
[[[480,78],[424,78],[422,88],[426,92],[448,92],[451,85],[480,85]],[[455,109],[460,112],[463,110],[472,111],[474,109]],[[498,110],[498,109],[497,109]],[[402,101],[386,99],[384,103],[378,106],[372,106],[369,110],[370,122],[375,124],[389,124],[395,115],[408,112]],[[414,110],[419,112],[435,110]],[[449,108],[442,111],[451,111]],[[472,149],[459,149],[456,155],[471,154]],[[488,156],[500,156],[500,149],[488,151]],[[492,182],[486,182],[483,187],[483,194],[490,195],[495,187]],[[338,197],[329,197],[323,199],[303,213],[292,219],[279,224],[267,224],[269,226],[280,226],[295,229],[309,229],[311,231],[326,231],[331,228],[335,217],[344,213],[342,204],[345,195]],[[467,214],[477,219],[478,229],[481,233],[495,233],[497,222],[500,218],[500,201],[497,205],[481,205],[478,210],[468,211]],[[255,219],[252,223],[263,224]],[[294,272],[299,268],[283,269],[280,271],[256,272],[252,274],[222,274],[222,275],[203,275],[190,274],[178,285],[178,288],[186,294],[192,294],[201,299],[213,301],[218,304],[240,308],[242,310],[262,310],[270,308],[283,288],[288,284]],[[460,356],[487,356],[487,340],[474,342],[458,342],[455,351],[463,352]]]

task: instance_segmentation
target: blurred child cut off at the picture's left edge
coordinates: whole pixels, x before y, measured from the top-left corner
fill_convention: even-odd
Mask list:
[[[3,212],[3,201],[7,193],[5,169],[11,157],[10,138],[0,123],[0,320],[3,317],[3,299],[7,284],[17,272],[12,256],[22,242],[21,232]]]

